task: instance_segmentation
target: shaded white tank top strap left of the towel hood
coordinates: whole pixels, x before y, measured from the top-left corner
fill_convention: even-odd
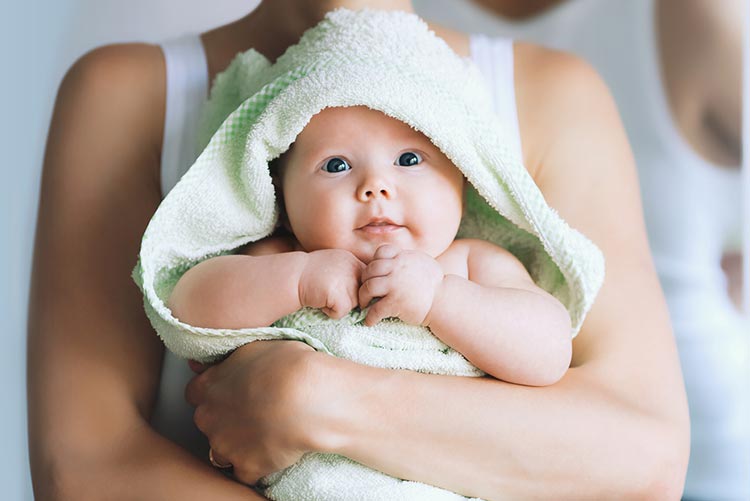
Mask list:
[[[160,44],[167,72],[166,112],[161,151],[162,197],[198,156],[198,117],[208,99],[208,64],[200,36],[191,34]]]

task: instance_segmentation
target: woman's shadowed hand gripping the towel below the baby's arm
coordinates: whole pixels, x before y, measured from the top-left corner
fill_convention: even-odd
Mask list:
[[[255,341],[211,367],[191,363],[201,372],[185,389],[195,424],[239,481],[252,485],[312,450],[323,357],[297,341]]]

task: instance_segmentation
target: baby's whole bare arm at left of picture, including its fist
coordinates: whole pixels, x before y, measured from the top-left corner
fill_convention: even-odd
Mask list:
[[[215,329],[266,327],[303,306],[341,318],[357,305],[363,267],[347,251],[299,252],[272,237],[197,264],[167,306],[182,322]]]

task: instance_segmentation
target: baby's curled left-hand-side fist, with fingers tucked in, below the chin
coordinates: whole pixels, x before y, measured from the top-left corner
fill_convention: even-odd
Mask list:
[[[341,249],[310,252],[299,280],[302,306],[320,308],[331,318],[341,318],[357,306],[357,290],[365,265]]]

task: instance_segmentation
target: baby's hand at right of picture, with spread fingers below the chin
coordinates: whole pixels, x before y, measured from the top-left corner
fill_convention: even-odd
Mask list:
[[[375,325],[386,317],[422,325],[443,276],[443,268],[432,256],[381,245],[362,273],[359,306],[365,308],[380,298],[367,312],[365,325]]]

